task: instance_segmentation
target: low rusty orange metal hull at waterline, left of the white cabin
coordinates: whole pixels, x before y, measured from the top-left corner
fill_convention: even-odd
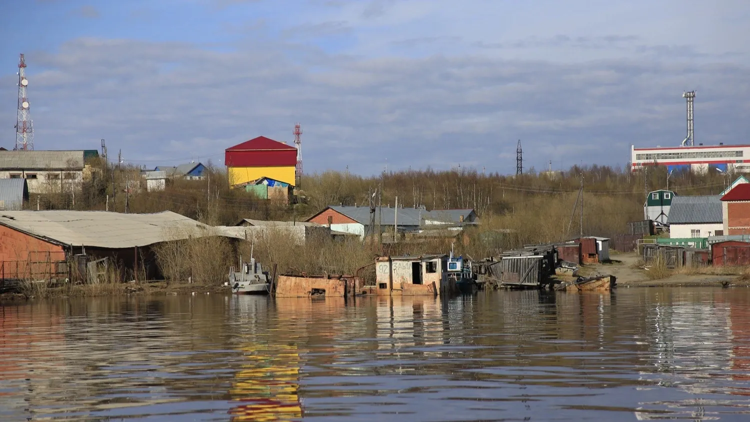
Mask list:
[[[277,298],[309,298],[322,295],[326,298],[353,296],[362,292],[359,277],[296,277],[280,275],[276,280]]]

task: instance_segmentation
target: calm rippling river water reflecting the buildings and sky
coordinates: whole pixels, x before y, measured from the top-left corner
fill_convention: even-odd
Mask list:
[[[750,421],[750,289],[0,307],[0,420]]]

